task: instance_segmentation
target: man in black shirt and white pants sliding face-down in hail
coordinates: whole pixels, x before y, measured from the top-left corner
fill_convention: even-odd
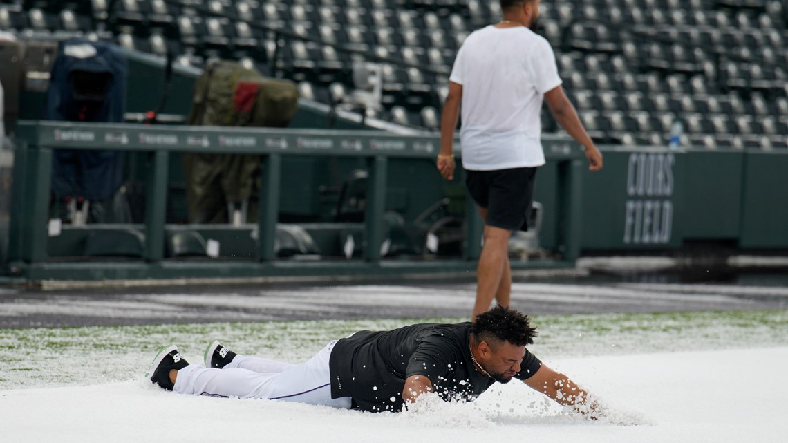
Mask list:
[[[173,344],[158,352],[147,377],[176,393],[376,412],[401,411],[425,393],[470,401],[495,382],[518,378],[559,404],[596,418],[600,408],[589,393],[526,349],[536,335],[526,315],[498,306],[472,323],[359,331],[332,341],[301,364],[242,356],[214,341],[203,367],[189,364]]]

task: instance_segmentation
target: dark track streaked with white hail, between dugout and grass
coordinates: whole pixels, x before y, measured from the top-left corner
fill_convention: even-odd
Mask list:
[[[788,277],[516,273],[511,306],[531,315],[788,309]],[[467,317],[469,277],[397,281],[0,289],[0,328],[173,322]]]

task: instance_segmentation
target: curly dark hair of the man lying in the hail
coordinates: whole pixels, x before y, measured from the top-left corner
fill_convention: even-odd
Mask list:
[[[470,326],[470,333],[474,334],[476,340],[486,341],[492,346],[503,341],[515,346],[527,346],[533,343],[537,329],[531,327],[527,315],[499,304],[477,315],[476,321]]]

